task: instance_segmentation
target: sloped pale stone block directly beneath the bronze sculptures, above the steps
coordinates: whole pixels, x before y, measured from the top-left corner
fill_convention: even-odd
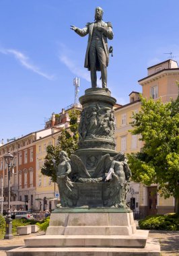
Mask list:
[[[133,212],[120,208],[64,208],[50,216],[46,234],[70,235],[126,235],[135,234]]]

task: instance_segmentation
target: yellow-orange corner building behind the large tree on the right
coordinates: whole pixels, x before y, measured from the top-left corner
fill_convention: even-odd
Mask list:
[[[142,94],[146,98],[162,98],[162,102],[168,102],[171,98],[176,100],[178,96],[179,81],[178,63],[169,59],[147,69],[147,77],[139,80],[142,86]],[[116,150],[124,153],[139,152],[142,142],[139,135],[131,135],[131,116],[141,108],[138,92],[129,94],[130,102],[115,109],[116,120]],[[131,208],[143,215],[164,214],[174,212],[174,198],[164,199],[157,193],[157,185],[145,187],[139,183],[131,183],[127,201]]]

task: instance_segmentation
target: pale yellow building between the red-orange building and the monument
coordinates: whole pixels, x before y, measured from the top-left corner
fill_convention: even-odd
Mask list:
[[[45,129],[50,129],[50,134],[36,139],[36,210],[54,210],[60,199],[57,183],[52,183],[50,177],[41,173],[46,157],[46,147],[57,146],[62,129],[69,127],[69,110],[81,111],[81,104],[71,104],[63,108],[59,114],[52,113],[52,117],[45,124]],[[44,129],[44,130],[45,130]]]

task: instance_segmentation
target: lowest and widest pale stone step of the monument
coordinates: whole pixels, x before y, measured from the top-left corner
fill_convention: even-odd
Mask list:
[[[7,251],[7,256],[159,256],[159,241],[148,239],[145,248],[108,247],[20,247]]]

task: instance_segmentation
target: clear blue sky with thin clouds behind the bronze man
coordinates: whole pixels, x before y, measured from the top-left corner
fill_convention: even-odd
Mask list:
[[[96,6],[113,26],[108,88],[118,103],[141,92],[137,81],[164,53],[179,61],[178,0],[0,0],[0,140],[42,129],[44,117],[72,104],[74,77],[79,96],[90,87],[87,36],[69,28],[93,22]]]

